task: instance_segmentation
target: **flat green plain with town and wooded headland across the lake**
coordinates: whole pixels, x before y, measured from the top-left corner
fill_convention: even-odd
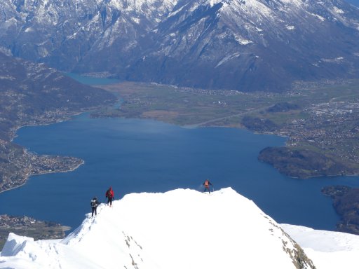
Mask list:
[[[259,160],[290,177],[359,174],[359,81],[298,84],[287,93],[201,90],[118,83],[102,88],[123,98],[93,117],[151,118],[187,127],[245,127],[287,137]]]

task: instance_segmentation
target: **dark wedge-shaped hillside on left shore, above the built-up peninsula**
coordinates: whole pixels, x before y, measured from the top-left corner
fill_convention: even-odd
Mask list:
[[[115,97],[78,83],[45,64],[0,53],[0,139],[20,125],[51,123],[73,113],[110,104]]]

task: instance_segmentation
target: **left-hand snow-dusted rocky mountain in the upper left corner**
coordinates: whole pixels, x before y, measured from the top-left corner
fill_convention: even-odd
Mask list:
[[[0,45],[62,70],[121,71],[174,5],[169,0],[5,0]]]

